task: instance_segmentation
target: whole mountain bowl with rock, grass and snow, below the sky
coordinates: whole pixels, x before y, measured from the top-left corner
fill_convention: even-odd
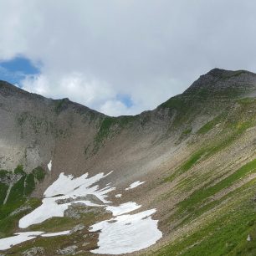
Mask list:
[[[255,255],[255,95],[256,74],[212,69],[110,117],[0,81],[0,250]]]

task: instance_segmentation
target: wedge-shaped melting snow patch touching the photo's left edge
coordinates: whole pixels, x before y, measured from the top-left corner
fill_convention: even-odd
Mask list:
[[[23,243],[25,241],[36,238],[41,233],[44,233],[44,232],[35,231],[35,232],[15,233],[15,236],[13,237],[2,238],[0,239],[0,250],[6,250],[8,248],[11,248],[15,244]]]

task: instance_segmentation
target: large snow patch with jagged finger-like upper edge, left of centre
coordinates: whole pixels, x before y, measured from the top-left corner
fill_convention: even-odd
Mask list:
[[[28,215],[21,218],[18,227],[28,228],[33,224],[43,223],[49,218],[64,217],[64,211],[67,210],[72,203],[84,203],[85,205],[92,207],[100,206],[90,201],[79,200],[77,197],[84,197],[91,194],[98,197],[102,202],[108,202],[105,200],[105,197],[107,197],[106,193],[115,188],[105,187],[99,190],[98,185],[94,187],[91,187],[91,185],[109,174],[110,173],[104,175],[103,173],[99,173],[94,177],[87,178],[88,173],[86,173],[81,177],[74,178],[71,175],[65,176],[64,173],[60,173],[59,178],[44,192],[45,198],[42,200],[43,204],[33,210],[33,212],[30,212]],[[69,198],[73,198],[74,202],[65,202],[62,204],[57,202]]]

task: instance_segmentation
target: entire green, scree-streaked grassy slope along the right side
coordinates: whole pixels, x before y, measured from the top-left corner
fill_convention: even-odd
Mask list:
[[[177,182],[177,191],[187,193],[166,221],[171,226],[177,223],[173,232],[182,228],[188,231],[154,251],[154,255],[256,255],[256,178],[247,180],[256,173],[256,159],[236,168],[234,163],[238,158],[233,158],[229,164],[233,166],[232,172],[230,167],[222,174],[218,169],[207,174],[200,171],[204,161],[229,151],[248,128],[256,125],[256,100],[243,99],[235,103],[236,108],[202,125],[197,138],[210,136],[211,139],[196,147],[187,161],[164,178],[164,183]],[[225,164],[223,162],[223,166]],[[191,174],[194,167],[197,173]],[[187,178],[180,179],[185,172]],[[203,183],[205,180],[208,182]],[[238,182],[243,184],[236,187]],[[233,190],[229,191],[232,186]],[[197,189],[191,193],[195,187]],[[170,197],[172,192],[164,198]],[[248,234],[251,242],[247,241]]]

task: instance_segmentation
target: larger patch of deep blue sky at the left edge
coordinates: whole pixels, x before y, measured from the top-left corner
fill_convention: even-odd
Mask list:
[[[39,74],[39,69],[29,59],[17,57],[0,62],[0,79],[20,85],[27,75]]]

